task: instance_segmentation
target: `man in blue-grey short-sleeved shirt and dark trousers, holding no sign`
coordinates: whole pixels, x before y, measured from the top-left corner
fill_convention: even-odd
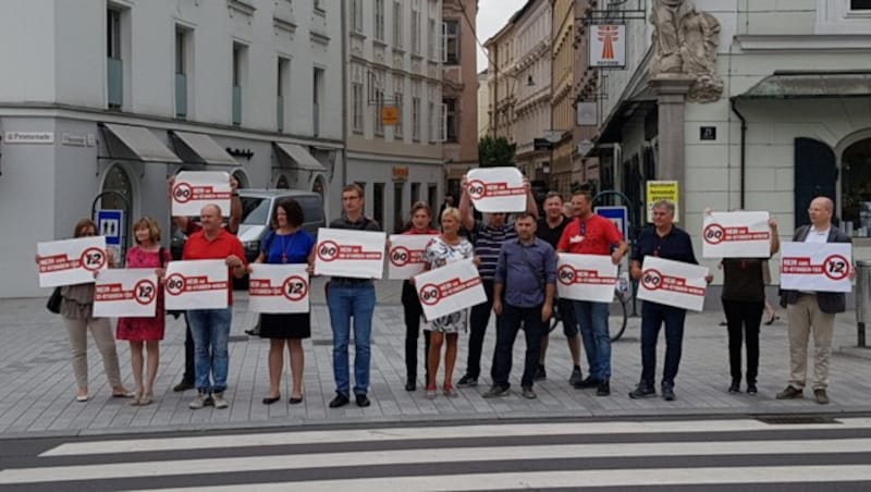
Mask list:
[[[502,245],[493,279],[493,312],[502,319],[496,324],[493,385],[483,394],[484,398],[508,392],[512,352],[522,323],[526,333],[526,359],[520,388],[525,398],[537,397],[532,382],[541,353],[541,335],[553,315],[556,254],[551,245],[536,237],[533,214],[522,213],[514,226],[517,238]]]

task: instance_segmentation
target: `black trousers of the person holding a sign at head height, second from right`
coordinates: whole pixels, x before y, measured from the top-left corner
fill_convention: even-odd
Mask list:
[[[741,380],[741,345],[746,340],[747,382],[756,383],[759,374],[759,324],[762,322],[765,302],[722,300],[728,328],[728,367],[732,379]]]

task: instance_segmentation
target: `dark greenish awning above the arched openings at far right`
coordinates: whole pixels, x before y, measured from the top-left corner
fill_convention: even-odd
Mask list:
[[[871,96],[871,72],[774,72],[736,99],[823,99]]]

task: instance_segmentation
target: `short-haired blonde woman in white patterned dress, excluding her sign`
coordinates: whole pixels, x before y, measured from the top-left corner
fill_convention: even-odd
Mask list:
[[[454,261],[461,261],[474,256],[471,243],[465,237],[459,236],[459,210],[447,207],[442,212],[442,234],[430,241],[427,251],[424,254],[427,260],[426,269],[444,267]],[[417,293],[415,293],[417,296]],[[457,341],[459,331],[468,329],[468,309],[462,309],[450,315],[431,320],[425,328],[427,336],[427,398],[436,397],[436,374],[439,372],[439,359],[442,355],[442,342],[445,342],[444,349],[444,384],[442,391],[446,396],[455,397],[456,390],[452,383],[454,366],[456,365]]]

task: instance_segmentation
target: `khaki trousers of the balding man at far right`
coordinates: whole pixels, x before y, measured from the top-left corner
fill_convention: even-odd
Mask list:
[[[813,334],[813,390],[829,385],[829,360],[835,315],[820,310],[815,295],[802,294],[786,307],[789,320],[789,385],[803,390],[808,370],[808,339]]]

